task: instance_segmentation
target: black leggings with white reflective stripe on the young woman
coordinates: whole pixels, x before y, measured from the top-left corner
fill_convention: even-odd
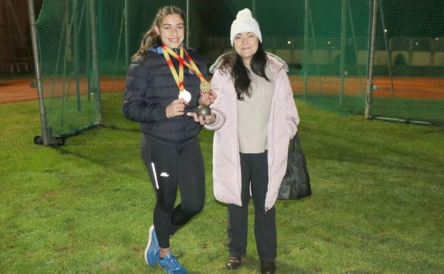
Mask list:
[[[205,169],[199,139],[171,147],[142,136],[141,152],[156,191],[153,222],[159,246],[169,248],[169,237],[203,209]],[[174,208],[177,189],[181,204]]]

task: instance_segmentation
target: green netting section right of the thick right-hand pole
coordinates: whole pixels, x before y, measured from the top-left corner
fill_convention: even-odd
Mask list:
[[[444,125],[444,1],[376,1],[369,116]]]

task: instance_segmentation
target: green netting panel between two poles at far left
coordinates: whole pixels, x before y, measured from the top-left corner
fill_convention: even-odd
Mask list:
[[[94,1],[43,1],[36,32],[49,143],[100,123],[95,20]]]

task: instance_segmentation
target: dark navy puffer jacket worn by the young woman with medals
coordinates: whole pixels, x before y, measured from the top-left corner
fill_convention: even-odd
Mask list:
[[[204,77],[206,65],[193,50],[187,51]],[[177,73],[179,62],[171,57]],[[159,48],[150,51],[144,60],[133,60],[127,70],[125,81],[125,101],[123,113],[129,120],[140,122],[140,128],[145,135],[161,142],[181,147],[193,139],[201,130],[201,125],[194,122],[193,117],[186,112],[198,105],[200,80],[194,71],[184,66],[184,88],[191,93],[191,101],[186,106],[185,114],[167,118],[165,108],[179,95],[171,70]]]

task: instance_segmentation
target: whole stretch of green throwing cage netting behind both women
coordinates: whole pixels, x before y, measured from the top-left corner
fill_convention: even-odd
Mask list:
[[[248,7],[265,51],[290,66],[297,98],[342,113],[444,125],[441,0],[45,0],[36,26],[51,136],[100,122],[99,72],[122,80],[157,9],[170,4],[188,11],[185,41],[208,66],[231,50],[231,22]]]

